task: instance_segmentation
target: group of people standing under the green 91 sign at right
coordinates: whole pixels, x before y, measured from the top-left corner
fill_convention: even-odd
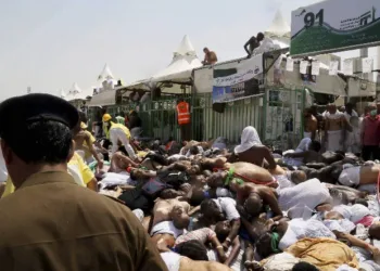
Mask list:
[[[318,140],[327,151],[354,153],[364,160],[380,159],[380,103],[364,108],[362,116],[352,103],[338,108],[329,104],[322,114],[317,106],[304,112],[305,138]]]

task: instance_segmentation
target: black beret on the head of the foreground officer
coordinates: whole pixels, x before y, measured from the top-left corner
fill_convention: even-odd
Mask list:
[[[79,121],[79,114],[65,100],[42,93],[14,96],[0,104],[0,136],[21,131],[40,120],[59,121],[72,130]]]

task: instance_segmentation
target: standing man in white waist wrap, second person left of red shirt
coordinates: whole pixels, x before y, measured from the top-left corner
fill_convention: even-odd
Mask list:
[[[337,111],[337,106],[334,104],[330,104],[325,114],[325,119],[326,151],[343,151],[346,124],[343,113]]]

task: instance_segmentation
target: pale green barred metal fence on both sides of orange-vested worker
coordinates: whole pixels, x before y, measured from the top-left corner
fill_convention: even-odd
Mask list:
[[[185,100],[190,104],[191,134],[194,140],[225,137],[230,143],[237,143],[241,131],[246,126],[256,127],[257,132],[262,134],[263,96],[227,103],[223,113],[213,111],[211,93],[195,94]],[[175,140],[180,140],[176,105],[176,99],[166,99],[147,103],[112,105],[106,107],[106,112],[115,117],[121,112],[137,111],[142,120],[143,136],[162,140],[173,137]],[[96,114],[97,109],[90,107],[88,114],[90,124],[96,120]]]

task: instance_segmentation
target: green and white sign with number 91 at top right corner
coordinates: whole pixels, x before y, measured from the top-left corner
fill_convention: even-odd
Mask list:
[[[292,12],[290,54],[380,44],[380,0],[329,0]]]

